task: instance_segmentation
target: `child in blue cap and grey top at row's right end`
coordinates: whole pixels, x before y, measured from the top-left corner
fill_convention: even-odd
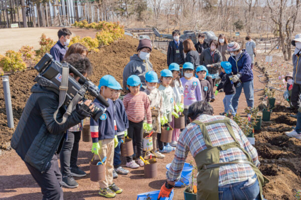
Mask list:
[[[208,80],[206,80],[206,77],[208,75],[208,69],[204,65],[200,65],[197,67],[197,74],[196,77],[199,78],[200,84],[202,87],[202,97],[207,102],[210,102],[212,91],[211,91],[211,85]]]

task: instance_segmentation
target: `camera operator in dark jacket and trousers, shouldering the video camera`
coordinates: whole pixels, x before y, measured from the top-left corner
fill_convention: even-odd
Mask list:
[[[74,53],[65,61],[84,76],[92,73],[92,64],[83,55]],[[69,75],[77,81],[80,78],[73,73]],[[86,100],[83,104],[78,103],[67,121],[59,125],[54,119],[54,112],[59,105],[59,95],[38,83],[31,88],[31,92],[13,134],[11,146],[24,160],[41,187],[43,199],[63,199],[62,174],[57,154],[64,141],[66,130],[90,116],[94,109],[93,104],[91,100]],[[61,108],[57,118],[62,118],[64,113],[65,109]]]

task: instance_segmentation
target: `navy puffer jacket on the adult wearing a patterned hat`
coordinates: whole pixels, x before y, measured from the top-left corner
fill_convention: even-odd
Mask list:
[[[253,80],[253,71],[251,69],[251,57],[245,49],[242,49],[241,56],[237,60],[236,58],[233,58],[233,56],[230,56],[228,61],[232,65],[233,74],[237,74],[238,72],[241,74],[240,80],[242,82]]]

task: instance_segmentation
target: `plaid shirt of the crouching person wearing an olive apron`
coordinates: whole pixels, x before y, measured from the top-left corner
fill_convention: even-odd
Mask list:
[[[211,116],[202,114],[197,117],[197,120],[200,120],[202,122],[210,122],[224,119],[224,117],[225,116],[221,115]],[[239,126],[233,120],[230,121],[235,137],[240,143],[240,146],[249,153],[253,160],[253,163],[258,167],[260,162],[258,160],[256,149],[251,145]],[[234,141],[227,129],[227,126],[224,123],[206,125],[206,128],[213,146],[218,146]],[[207,146],[205,144],[200,126],[196,123],[188,124],[180,134],[175,157],[169,170],[166,172],[167,179],[171,181],[178,179],[189,151],[195,157],[199,152],[205,150],[206,148]],[[247,160],[247,157],[245,156],[244,152],[237,147],[220,151],[220,162],[230,162],[236,159]],[[244,181],[249,177],[252,177],[254,174],[255,172],[249,164],[226,164],[219,167],[218,185],[221,186]]]

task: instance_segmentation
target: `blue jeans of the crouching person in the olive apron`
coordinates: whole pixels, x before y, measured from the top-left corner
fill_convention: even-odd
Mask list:
[[[253,176],[257,177],[256,174]],[[260,199],[259,183],[258,179],[248,186],[244,184],[248,180],[235,182],[232,184],[226,184],[218,187],[218,196],[219,200],[231,200],[231,199],[240,199],[240,200],[257,200]]]

